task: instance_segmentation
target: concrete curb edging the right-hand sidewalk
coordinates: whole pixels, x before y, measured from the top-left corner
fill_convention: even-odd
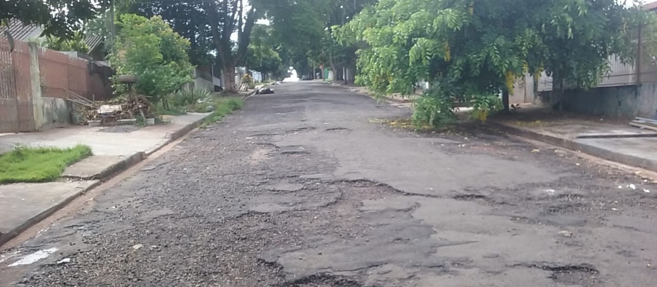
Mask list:
[[[522,136],[524,138],[530,138],[532,140],[537,140],[539,142],[549,143],[551,145],[556,145],[559,147],[564,147],[566,149],[572,149],[574,151],[582,151],[589,155],[599,157],[601,159],[606,159],[608,161],[615,161],[616,163],[627,164],[630,166],[637,166],[640,168],[646,168],[648,170],[657,171],[657,162],[650,161],[643,157],[637,157],[635,155],[627,155],[625,153],[618,153],[611,149],[603,149],[595,145],[588,145],[586,143],[576,142],[575,140],[568,138],[560,138],[551,134],[544,134],[530,130],[528,128],[518,128],[517,126],[512,126],[510,124],[500,123],[498,121],[489,121],[489,126],[493,126],[499,130],[508,132],[509,134],[515,134],[516,136]]]

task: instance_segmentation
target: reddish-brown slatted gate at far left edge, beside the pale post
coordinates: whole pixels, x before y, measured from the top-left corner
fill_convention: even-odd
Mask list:
[[[29,47],[16,42],[0,36],[0,132],[34,130]]]

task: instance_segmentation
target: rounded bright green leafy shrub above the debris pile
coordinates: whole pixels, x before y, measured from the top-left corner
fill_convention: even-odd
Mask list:
[[[120,32],[116,53],[110,61],[117,75],[139,75],[137,93],[162,101],[192,81],[193,67],[187,56],[189,41],[162,18],[124,14],[117,24]],[[115,88],[120,93],[126,91],[125,85],[119,83]]]

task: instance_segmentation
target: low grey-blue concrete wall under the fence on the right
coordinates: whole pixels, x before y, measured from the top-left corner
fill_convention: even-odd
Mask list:
[[[564,93],[564,109],[576,113],[651,119],[657,114],[657,83],[574,89]],[[539,94],[543,104],[553,105],[559,101],[552,91]]]

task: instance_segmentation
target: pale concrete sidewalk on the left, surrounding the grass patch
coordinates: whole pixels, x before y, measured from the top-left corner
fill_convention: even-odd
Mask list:
[[[167,143],[199,126],[209,113],[164,117],[166,124],[135,129],[129,126],[70,126],[46,132],[0,134],[0,153],[16,144],[30,147],[91,147],[93,156],[69,166],[65,181],[0,185],[0,244],[53,214],[116,172],[139,163]]]

